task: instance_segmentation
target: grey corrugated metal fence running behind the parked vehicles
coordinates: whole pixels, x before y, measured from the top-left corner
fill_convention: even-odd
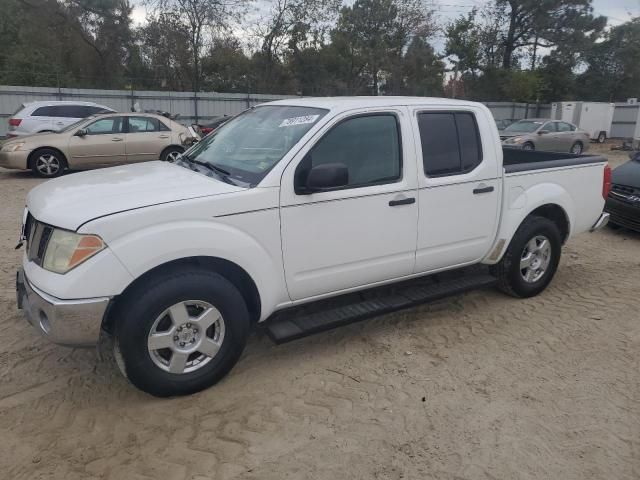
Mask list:
[[[8,118],[23,103],[37,100],[79,100],[95,102],[121,112],[131,111],[138,104],[142,110],[162,110],[179,113],[184,124],[206,122],[222,115],[234,115],[260,103],[295,98],[286,95],[244,93],[195,93],[140,90],[90,90],[73,88],[0,86],[0,137],[7,131]],[[548,118],[549,104],[488,102],[496,119]],[[614,138],[640,136],[640,105],[617,103],[611,127]]]

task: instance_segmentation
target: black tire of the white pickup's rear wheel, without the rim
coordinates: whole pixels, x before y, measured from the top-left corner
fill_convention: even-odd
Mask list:
[[[551,246],[549,264],[539,279],[528,282],[524,279],[520,262],[529,242],[540,236],[548,239]],[[498,288],[518,298],[538,295],[547,288],[558,269],[561,247],[562,239],[555,223],[544,217],[528,217],[511,239],[502,260],[491,267],[491,273],[498,279]]]

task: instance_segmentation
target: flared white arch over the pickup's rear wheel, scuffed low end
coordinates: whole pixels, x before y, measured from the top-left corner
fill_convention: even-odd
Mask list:
[[[498,235],[491,253],[483,263],[495,264],[499,262],[525,218],[544,205],[557,205],[564,211],[569,224],[568,236],[571,236],[575,205],[569,192],[561,185],[548,182],[539,183],[529,188],[518,185],[508,188],[504,195],[504,207]]]

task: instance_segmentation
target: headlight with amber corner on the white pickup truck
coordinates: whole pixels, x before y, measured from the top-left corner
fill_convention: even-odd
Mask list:
[[[67,230],[53,230],[42,267],[56,273],[67,273],[105,248],[97,235],[81,235]]]

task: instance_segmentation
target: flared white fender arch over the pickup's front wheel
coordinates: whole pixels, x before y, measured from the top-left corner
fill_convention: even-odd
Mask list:
[[[256,214],[258,217],[260,214]],[[259,230],[265,224],[279,225],[275,218],[254,218]],[[244,223],[244,222],[243,222]],[[215,257],[235,263],[253,279],[260,294],[263,316],[275,305],[288,301],[279,228],[259,242],[235,225],[215,221],[185,220],[160,223],[113,239],[109,248],[133,278],[165,263],[188,257]],[[264,231],[263,231],[264,232]],[[276,241],[277,240],[277,241]],[[121,285],[120,291],[128,286]]]

